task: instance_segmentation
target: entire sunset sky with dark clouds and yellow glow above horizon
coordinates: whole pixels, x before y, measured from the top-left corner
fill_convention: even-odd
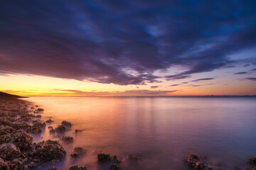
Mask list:
[[[0,91],[256,95],[256,1],[0,1]]]

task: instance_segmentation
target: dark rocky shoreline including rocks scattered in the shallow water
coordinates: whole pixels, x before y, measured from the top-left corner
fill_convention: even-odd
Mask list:
[[[33,106],[28,101],[17,98],[0,97],[0,169],[3,170],[26,170],[36,169],[45,162],[57,162],[63,157],[72,157],[73,159],[83,157],[85,148],[75,147],[73,154],[66,155],[66,151],[58,140],[46,140],[41,142],[33,142],[33,137],[29,134],[41,133],[42,128],[47,123],[54,120],[41,120],[44,110],[39,106]],[[72,126],[72,123],[63,120],[56,128],[48,127],[50,133],[63,132]],[[75,130],[78,132],[80,130]],[[72,143],[73,137],[63,136],[60,138],[65,143]],[[110,164],[110,170],[119,170],[119,166],[124,160],[137,161],[142,159],[135,155],[129,154],[122,160],[116,155],[97,154],[97,162]],[[96,161],[96,160],[95,160]],[[188,169],[195,170],[213,170],[221,169],[211,166],[210,162],[205,158],[198,157],[196,154],[190,154],[188,159]],[[250,166],[245,167],[246,170],[256,170],[256,157],[250,157]],[[69,170],[87,169],[86,166],[73,165]],[[50,170],[57,170],[52,167]]]

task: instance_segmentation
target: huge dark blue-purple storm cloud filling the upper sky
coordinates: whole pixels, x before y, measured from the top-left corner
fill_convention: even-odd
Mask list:
[[[0,1],[0,74],[146,84],[235,64],[256,45],[256,1]]]

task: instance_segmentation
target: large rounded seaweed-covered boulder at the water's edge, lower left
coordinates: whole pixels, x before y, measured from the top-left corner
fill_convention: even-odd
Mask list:
[[[42,162],[45,162],[62,158],[65,150],[58,141],[47,140],[38,142],[35,151],[31,154],[34,158],[41,159]]]

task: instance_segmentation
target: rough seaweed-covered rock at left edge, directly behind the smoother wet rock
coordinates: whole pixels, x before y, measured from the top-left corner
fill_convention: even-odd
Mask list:
[[[24,151],[28,149],[28,147],[31,147],[32,141],[33,137],[31,137],[31,135],[28,135],[23,130],[18,130],[17,132],[1,137],[0,144],[13,143],[21,151]]]

